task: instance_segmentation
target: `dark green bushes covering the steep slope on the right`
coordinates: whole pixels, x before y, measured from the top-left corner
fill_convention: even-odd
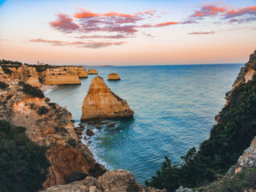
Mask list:
[[[192,188],[206,185],[225,174],[249,146],[256,135],[256,76],[241,83],[230,96],[230,102],[222,109],[220,120],[211,129],[208,140],[182,156],[182,164],[171,164],[165,157],[161,170],[147,186],[175,191],[180,185]]]

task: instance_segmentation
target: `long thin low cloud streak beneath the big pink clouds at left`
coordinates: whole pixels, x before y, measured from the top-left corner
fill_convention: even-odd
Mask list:
[[[102,48],[102,47],[109,47],[113,45],[123,45],[126,42],[62,42],[62,41],[51,41],[46,39],[30,39],[29,42],[42,42],[48,43],[53,46],[72,46],[72,47],[86,47],[86,48]]]

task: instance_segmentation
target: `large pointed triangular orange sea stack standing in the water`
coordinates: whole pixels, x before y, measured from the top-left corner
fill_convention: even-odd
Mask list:
[[[110,91],[102,77],[94,77],[83,100],[81,121],[132,118],[133,114],[127,101]]]

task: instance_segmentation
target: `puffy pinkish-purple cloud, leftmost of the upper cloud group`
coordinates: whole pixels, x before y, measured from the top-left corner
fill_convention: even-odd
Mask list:
[[[73,23],[73,19],[66,14],[60,13],[57,15],[57,20],[50,22],[50,26],[64,33],[71,33],[80,28],[78,24]]]

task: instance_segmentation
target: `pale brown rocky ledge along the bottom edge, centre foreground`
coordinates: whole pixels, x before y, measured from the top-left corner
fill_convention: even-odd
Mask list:
[[[45,192],[165,192],[155,188],[146,188],[136,183],[135,176],[126,170],[108,171],[97,179],[86,177],[68,185],[56,185]]]

